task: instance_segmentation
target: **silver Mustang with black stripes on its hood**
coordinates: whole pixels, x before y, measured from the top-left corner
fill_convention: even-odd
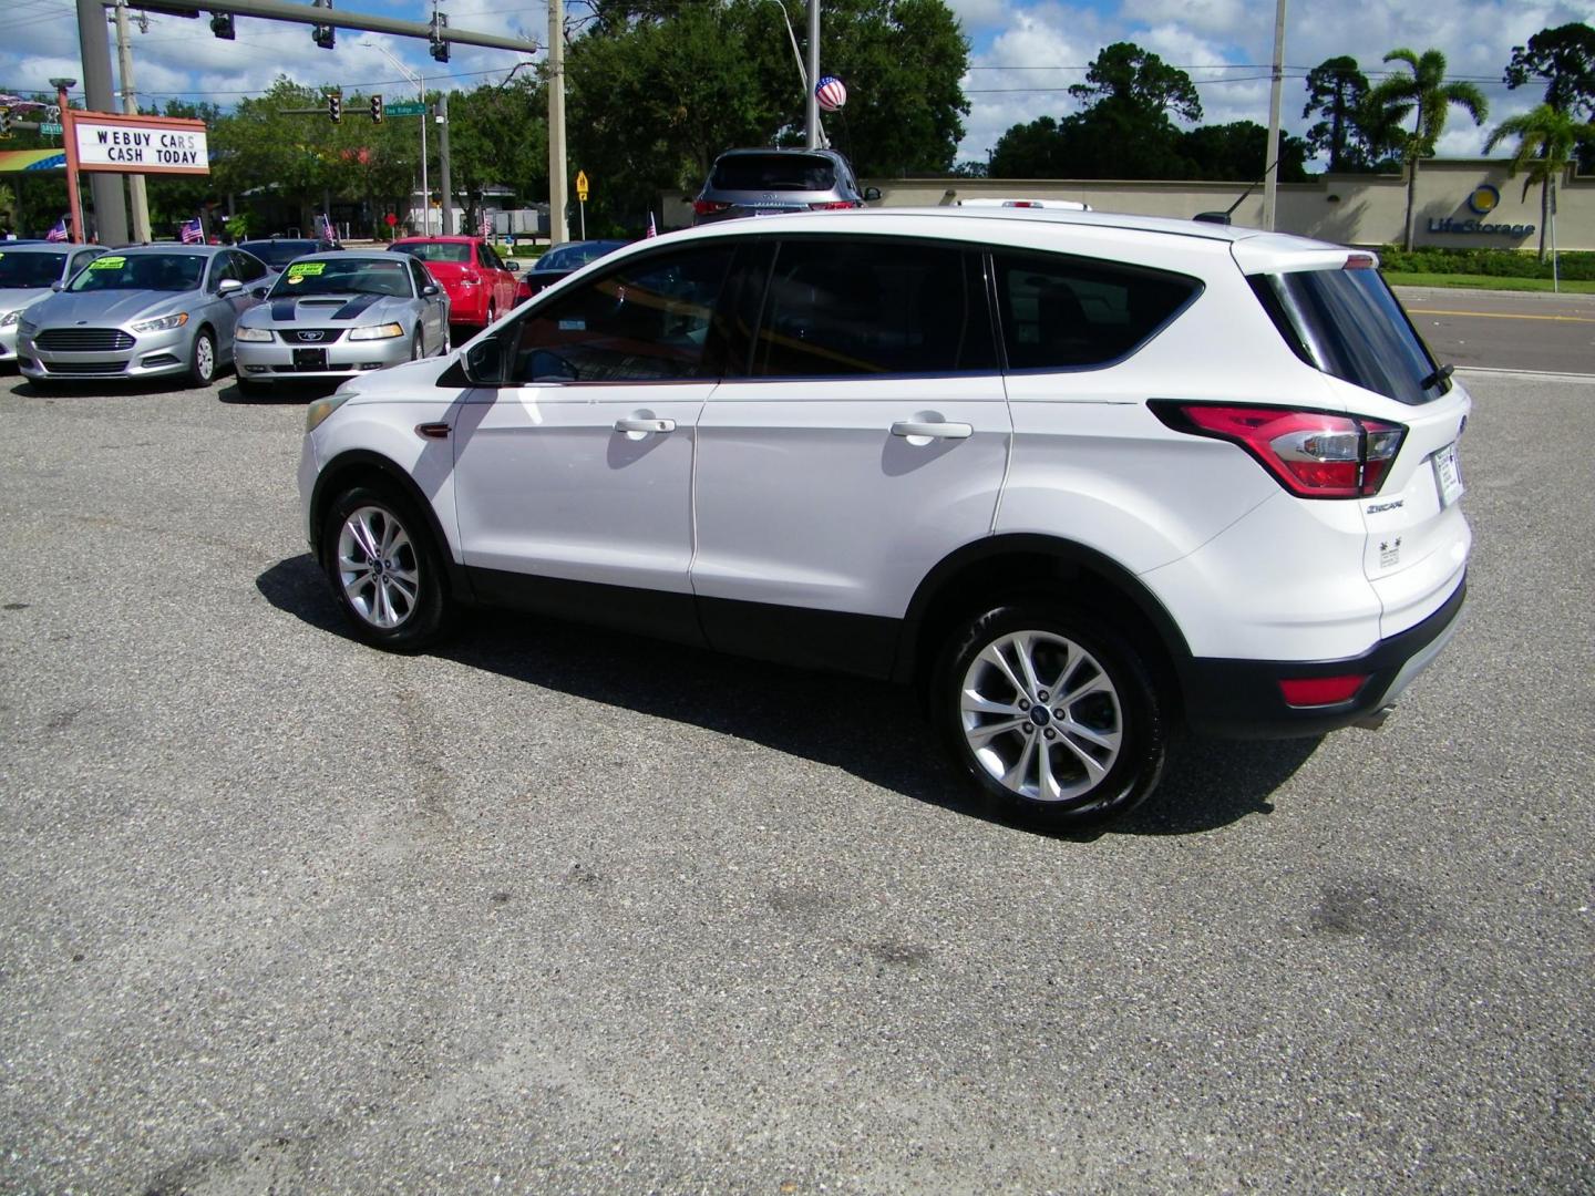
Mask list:
[[[397,254],[311,254],[290,262],[238,324],[238,388],[348,378],[448,352],[448,297]]]

